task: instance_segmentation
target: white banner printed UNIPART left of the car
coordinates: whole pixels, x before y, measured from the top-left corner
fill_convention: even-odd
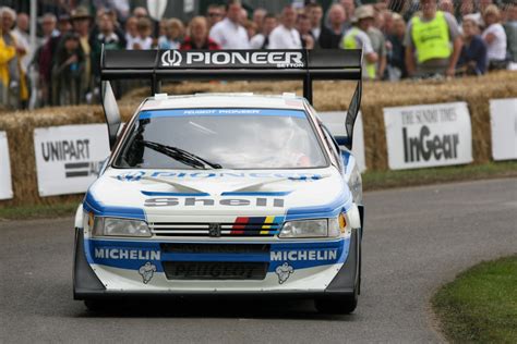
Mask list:
[[[109,155],[106,124],[34,130],[39,196],[84,193]]]

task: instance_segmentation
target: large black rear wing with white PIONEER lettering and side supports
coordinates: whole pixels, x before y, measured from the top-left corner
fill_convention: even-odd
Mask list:
[[[109,81],[148,79],[152,95],[161,81],[302,81],[303,96],[313,101],[313,81],[358,81],[345,126],[351,148],[353,124],[361,103],[361,50],[104,50],[100,61],[103,105],[110,127],[113,93]],[[109,99],[108,99],[109,98]],[[111,110],[109,110],[111,109]],[[116,126],[116,125],[115,125]],[[115,128],[113,128],[115,130]]]

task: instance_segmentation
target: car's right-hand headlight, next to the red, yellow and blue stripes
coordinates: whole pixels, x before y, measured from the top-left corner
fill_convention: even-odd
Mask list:
[[[345,214],[336,218],[318,220],[289,221],[281,228],[281,238],[292,237],[337,237],[346,234],[347,221]]]

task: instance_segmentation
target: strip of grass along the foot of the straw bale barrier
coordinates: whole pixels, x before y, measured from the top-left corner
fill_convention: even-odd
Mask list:
[[[430,185],[438,183],[517,177],[517,161],[491,162],[478,165],[447,167],[406,171],[368,171],[363,174],[364,191]],[[41,219],[68,217],[75,213],[80,202],[20,206],[0,208],[0,220]]]

